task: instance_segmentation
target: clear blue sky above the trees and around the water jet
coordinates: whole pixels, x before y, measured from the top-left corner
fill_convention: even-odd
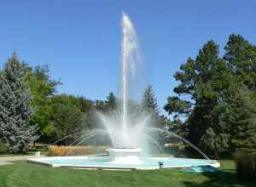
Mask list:
[[[49,65],[63,85],[58,94],[106,99],[119,95],[121,15],[129,15],[140,42],[143,79],[161,111],[177,85],[173,74],[208,40],[220,54],[231,33],[256,44],[256,1],[247,0],[22,0],[0,4],[0,65],[17,50],[29,65]]]

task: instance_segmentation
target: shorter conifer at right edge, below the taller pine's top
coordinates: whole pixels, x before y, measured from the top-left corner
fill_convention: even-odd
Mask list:
[[[246,87],[231,95],[229,123],[231,150],[256,149],[256,98]]]

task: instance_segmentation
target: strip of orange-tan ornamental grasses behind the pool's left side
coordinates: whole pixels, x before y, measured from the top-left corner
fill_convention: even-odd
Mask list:
[[[46,156],[83,156],[104,153],[106,146],[58,146],[50,145]]]

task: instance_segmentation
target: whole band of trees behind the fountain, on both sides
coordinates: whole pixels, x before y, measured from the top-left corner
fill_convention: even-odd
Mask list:
[[[174,74],[179,84],[160,114],[152,85],[131,111],[146,111],[154,126],[188,139],[210,156],[230,156],[236,149],[256,149],[256,47],[232,34],[220,56],[209,41]],[[118,110],[119,99],[57,94],[60,81],[48,66],[31,67],[14,53],[0,71],[0,142],[11,153],[26,153],[33,142],[52,144],[70,134],[99,126],[96,111]],[[167,127],[167,128],[166,128]],[[70,144],[76,135],[59,144]]]

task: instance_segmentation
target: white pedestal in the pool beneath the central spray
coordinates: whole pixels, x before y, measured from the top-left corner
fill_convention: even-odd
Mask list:
[[[113,163],[139,163],[141,162],[141,148],[109,148],[107,149],[109,161]]]

